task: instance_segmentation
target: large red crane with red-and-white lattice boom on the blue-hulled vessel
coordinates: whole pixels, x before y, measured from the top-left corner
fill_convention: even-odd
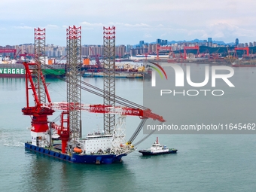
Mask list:
[[[131,115],[139,116],[141,119],[151,118],[153,120],[159,120],[164,122],[162,116],[154,114],[148,108],[133,108],[133,107],[121,107],[111,105],[84,105],[81,103],[69,103],[69,102],[51,102],[50,94],[47,90],[47,84],[44,80],[44,75],[40,72],[40,78],[44,85],[44,91],[47,96],[47,103],[42,103],[39,99],[38,86],[35,84],[32,78],[32,72],[29,70],[29,66],[34,66],[35,63],[24,62],[26,70],[26,107],[22,109],[24,115],[32,116],[32,136],[41,137],[43,133],[49,130],[47,125],[47,116],[52,115],[55,110],[62,111],[61,114],[61,125],[55,126],[60,140],[62,141],[62,153],[65,153],[67,142],[69,142],[69,109],[88,111],[93,113],[102,114],[120,114],[120,115]],[[29,86],[30,83],[30,86]],[[29,90],[32,90],[34,96],[35,106],[29,106]],[[137,128],[138,129],[138,128]],[[137,130],[136,130],[137,131]]]

